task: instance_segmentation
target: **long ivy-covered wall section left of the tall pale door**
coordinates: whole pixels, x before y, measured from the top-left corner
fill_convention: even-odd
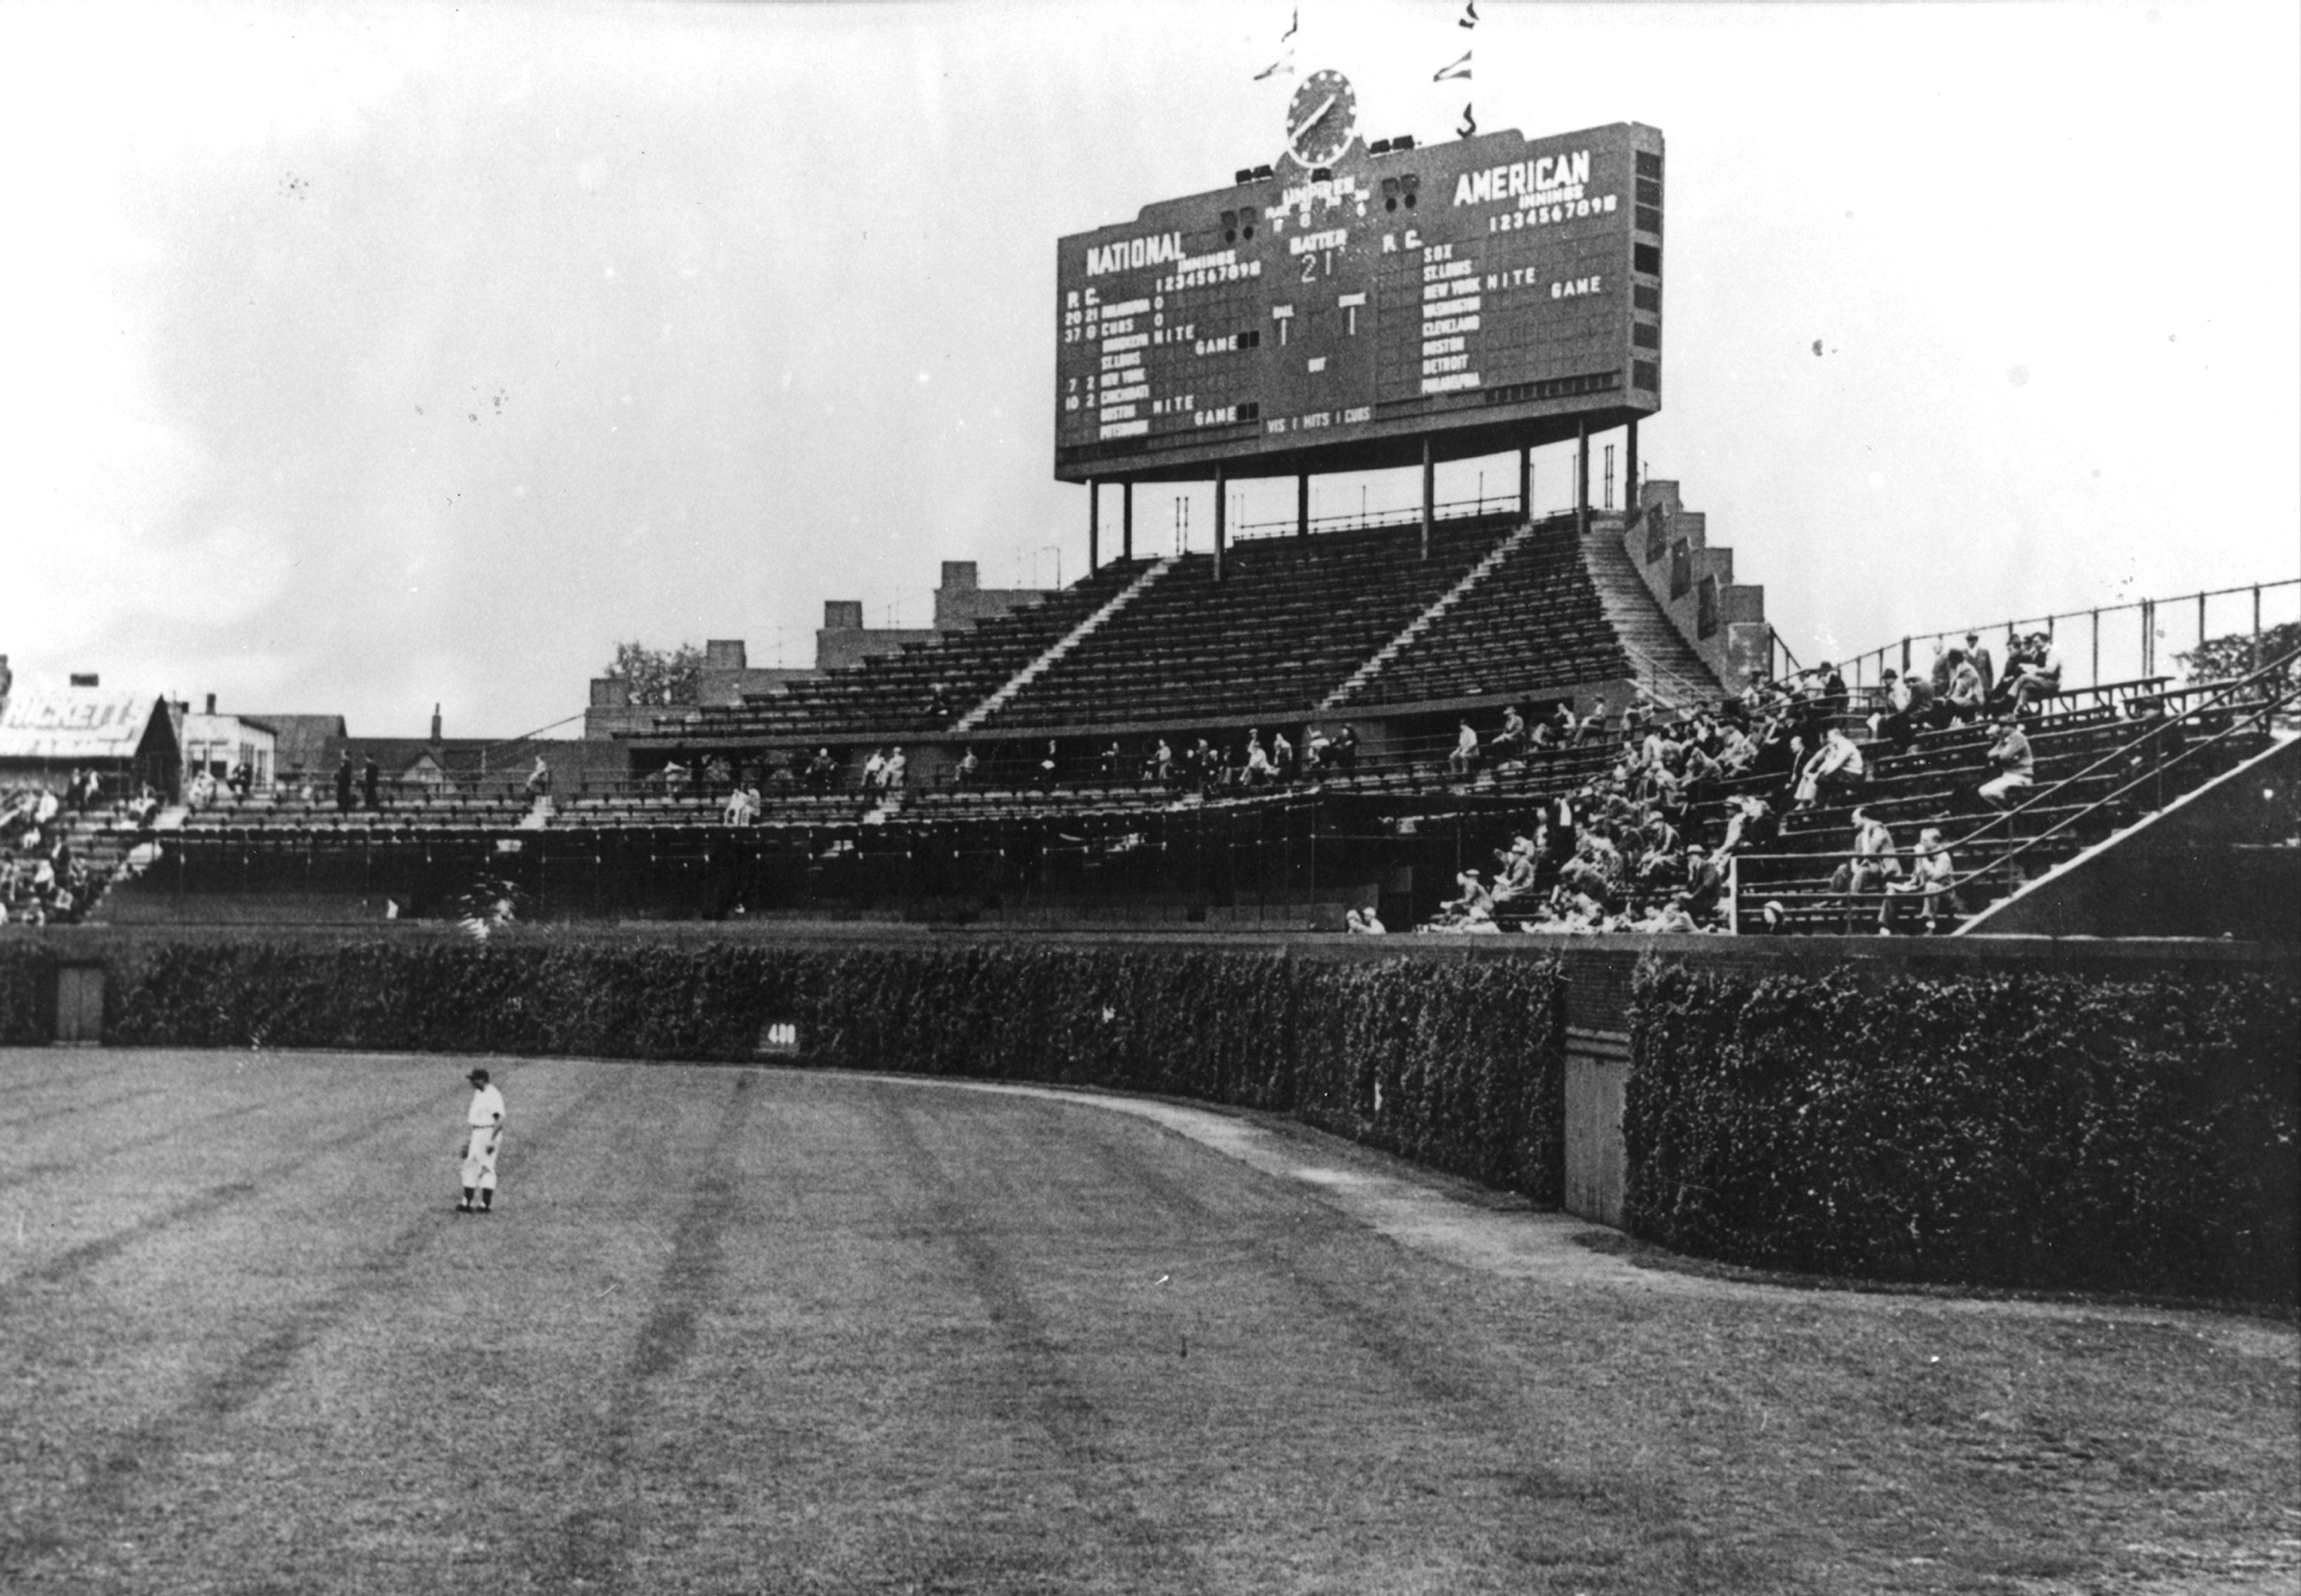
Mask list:
[[[1293,1113],[1555,1205],[1558,959],[1330,957],[1022,938],[532,931],[0,938],[0,1042],[55,1035],[55,966],[106,966],[115,1046],[757,1060],[1102,1085]],[[775,1060],[769,1060],[775,1062]]]

